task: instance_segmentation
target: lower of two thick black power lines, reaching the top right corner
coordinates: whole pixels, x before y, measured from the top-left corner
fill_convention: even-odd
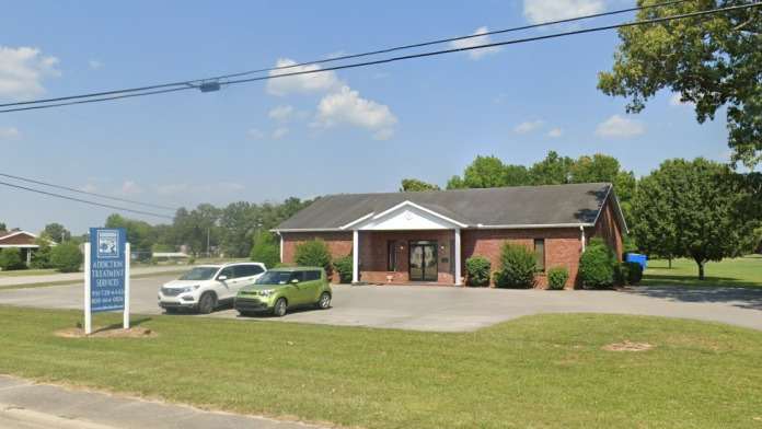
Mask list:
[[[760,5],[762,5],[762,2],[734,5],[734,7],[727,7],[727,8],[711,9],[711,10],[704,10],[704,11],[698,11],[698,12],[690,12],[690,13],[662,16],[662,18],[655,18],[655,19],[642,20],[642,21],[631,21],[631,22],[613,24],[613,25],[604,25],[604,26],[598,26],[598,27],[591,27],[591,28],[554,33],[554,34],[535,36],[535,37],[524,37],[524,38],[511,39],[511,40],[506,40],[506,42],[496,42],[496,43],[475,45],[475,46],[469,46],[469,47],[462,47],[462,48],[451,48],[451,49],[434,50],[434,51],[420,53],[420,54],[411,54],[411,55],[405,55],[405,56],[400,56],[400,57],[391,57],[391,58],[384,58],[384,59],[379,59],[379,60],[373,60],[373,61],[365,61],[365,62],[355,62],[355,63],[350,63],[350,65],[334,66],[334,67],[327,67],[327,68],[316,69],[316,70],[303,70],[303,71],[295,71],[295,72],[289,72],[289,73],[280,73],[280,74],[264,76],[264,77],[256,77],[256,78],[230,80],[230,81],[226,81],[226,82],[220,82],[220,85],[232,85],[232,84],[255,82],[255,81],[263,81],[263,80],[270,80],[270,79],[278,79],[278,78],[288,78],[288,77],[293,77],[293,76],[322,73],[322,72],[326,72],[326,71],[376,66],[376,65],[402,61],[402,60],[414,59],[414,58],[431,57],[431,56],[469,51],[469,50],[483,49],[483,48],[497,47],[497,46],[516,45],[516,44],[522,44],[522,43],[529,43],[529,42],[544,40],[544,39],[550,39],[550,38],[558,38],[558,37],[578,35],[578,34],[596,33],[596,32],[602,32],[602,31],[608,31],[608,30],[616,30],[616,28],[624,28],[624,27],[638,26],[638,25],[657,24],[657,23],[683,20],[683,19],[689,19],[689,18],[700,18],[700,16],[707,16],[707,15],[717,14],[717,13],[758,8]],[[59,107],[59,106],[67,106],[67,105],[72,105],[72,104],[97,103],[97,102],[104,102],[104,101],[109,101],[109,100],[161,94],[161,93],[175,92],[175,91],[184,91],[184,90],[189,90],[189,89],[195,89],[195,88],[196,86],[187,86],[187,88],[183,86],[183,88],[174,88],[174,89],[169,89],[169,90],[142,92],[142,93],[136,93],[136,94],[116,95],[116,96],[111,96],[111,97],[80,100],[80,101],[76,101],[76,102],[65,102],[65,103],[36,105],[36,106],[27,106],[27,107],[16,107],[16,108],[9,108],[9,109],[0,111],[0,113]]]

